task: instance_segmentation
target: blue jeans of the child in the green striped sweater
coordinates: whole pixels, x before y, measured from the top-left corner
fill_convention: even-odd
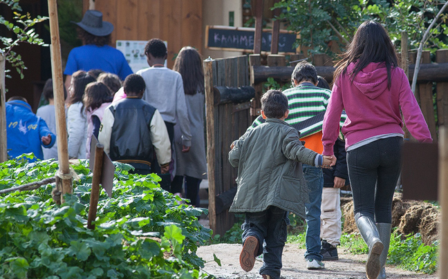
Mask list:
[[[307,260],[322,260],[320,253],[320,206],[322,203],[322,189],[324,188],[324,175],[322,169],[316,166],[303,164],[304,177],[310,191],[310,203],[305,204],[306,213],[306,252]]]

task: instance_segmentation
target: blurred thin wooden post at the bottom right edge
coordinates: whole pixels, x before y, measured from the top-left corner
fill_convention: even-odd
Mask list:
[[[439,128],[438,197],[440,203],[439,278],[448,278],[448,131]]]

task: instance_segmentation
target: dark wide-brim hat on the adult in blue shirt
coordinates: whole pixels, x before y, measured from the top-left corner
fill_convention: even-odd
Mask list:
[[[103,21],[102,12],[99,10],[87,10],[82,17],[82,21],[71,21],[71,23],[75,23],[84,31],[98,37],[107,36],[113,31],[113,24],[109,21]]]

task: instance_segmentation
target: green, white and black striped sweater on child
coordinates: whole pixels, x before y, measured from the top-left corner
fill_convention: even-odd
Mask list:
[[[330,90],[319,88],[308,82],[304,82],[299,86],[283,91],[283,94],[285,94],[288,98],[288,109],[290,111],[288,118],[285,119],[285,122],[288,124],[299,124],[322,113],[321,117],[316,117],[319,119],[311,121],[308,123],[309,126],[307,125],[305,128],[301,128],[299,130],[301,138],[308,137],[309,135],[314,135],[315,133],[322,131],[324,113],[331,95]],[[340,126],[344,124],[345,119],[346,115],[343,112],[340,119]],[[250,126],[248,130],[259,126],[264,122],[265,120],[260,115],[254,120],[252,126]]]

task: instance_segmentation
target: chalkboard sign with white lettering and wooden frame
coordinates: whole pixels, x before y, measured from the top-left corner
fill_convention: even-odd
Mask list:
[[[207,48],[253,50],[255,28],[232,28],[229,26],[207,26]],[[279,52],[295,53],[293,44],[296,41],[295,33],[281,30],[279,32]],[[263,30],[261,35],[261,50],[270,51],[272,32]]]

